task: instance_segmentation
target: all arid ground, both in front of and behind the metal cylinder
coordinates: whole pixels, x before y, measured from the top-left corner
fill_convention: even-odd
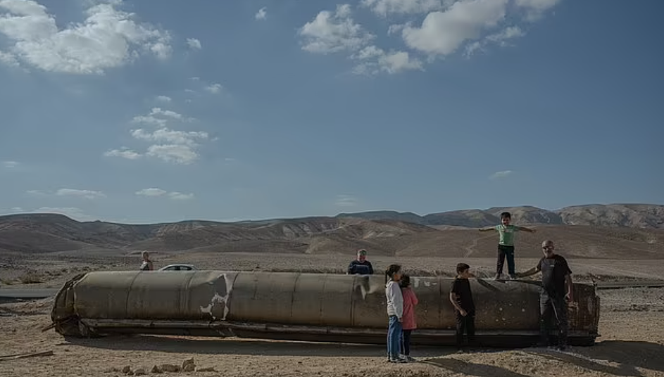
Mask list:
[[[156,267],[192,262],[201,269],[341,272],[352,255],[162,254]],[[480,275],[490,275],[493,258],[465,258]],[[259,262],[257,262],[259,261]],[[372,258],[376,269],[401,262],[414,274],[451,274],[457,258]],[[518,270],[535,259],[520,258]],[[3,256],[2,273],[11,285],[3,288],[46,288],[78,271],[136,269],[139,256],[33,255],[26,259]],[[13,268],[6,266],[12,264]],[[664,279],[661,260],[570,259],[576,280]],[[27,269],[19,268],[21,266]],[[34,283],[22,279],[30,274]],[[592,347],[570,352],[536,348],[477,350],[453,353],[447,347],[415,347],[412,364],[388,364],[382,346],[242,338],[114,336],[65,339],[50,324],[51,300],[0,305],[0,376],[124,376],[123,369],[181,365],[194,358],[196,369],[173,372],[187,376],[664,376],[664,289],[600,290],[601,337]],[[25,352],[52,351],[41,357],[3,357]]]

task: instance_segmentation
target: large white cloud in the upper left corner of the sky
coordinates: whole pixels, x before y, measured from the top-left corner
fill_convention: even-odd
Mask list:
[[[144,53],[170,56],[170,34],[118,10],[121,1],[91,4],[82,23],[58,29],[56,16],[32,0],[0,0],[0,34],[11,45],[0,59],[51,72],[103,74]],[[4,12],[2,12],[4,11]]]

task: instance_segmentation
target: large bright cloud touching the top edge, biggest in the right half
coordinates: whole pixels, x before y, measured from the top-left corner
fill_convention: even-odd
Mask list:
[[[461,0],[445,11],[429,13],[421,27],[407,25],[401,34],[411,49],[446,56],[496,27],[505,18],[507,4],[508,0]]]

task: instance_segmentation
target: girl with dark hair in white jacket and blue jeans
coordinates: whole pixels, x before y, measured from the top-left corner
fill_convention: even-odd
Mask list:
[[[401,296],[401,266],[390,264],[385,270],[385,297],[387,298],[387,361],[405,363],[406,359],[399,356],[401,343],[401,317],[403,317],[403,296]]]

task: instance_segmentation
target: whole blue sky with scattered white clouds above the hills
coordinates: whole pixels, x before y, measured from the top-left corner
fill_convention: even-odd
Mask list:
[[[664,203],[660,0],[0,0],[0,215]]]

